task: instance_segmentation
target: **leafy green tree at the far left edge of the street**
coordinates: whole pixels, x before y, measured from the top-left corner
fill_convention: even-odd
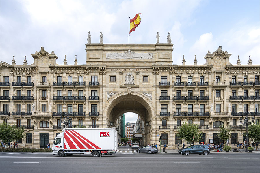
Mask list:
[[[13,127],[7,123],[0,124],[0,140],[3,142],[12,142],[18,139],[25,138],[23,128]]]

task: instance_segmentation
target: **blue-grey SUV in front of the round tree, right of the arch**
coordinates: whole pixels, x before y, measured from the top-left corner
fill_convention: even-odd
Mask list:
[[[191,145],[187,148],[179,149],[179,154],[190,155],[190,154],[199,154],[199,155],[208,155],[210,153],[209,147],[206,145]]]

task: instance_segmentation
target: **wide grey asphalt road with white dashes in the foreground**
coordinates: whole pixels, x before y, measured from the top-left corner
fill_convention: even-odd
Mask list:
[[[128,149],[120,147],[119,149]],[[129,150],[131,150],[129,148]],[[92,157],[90,154],[58,157],[51,153],[0,153],[1,173],[30,172],[235,172],[260,170],[258,153],[210,153],[179,155],[168,153],[118,153]]]

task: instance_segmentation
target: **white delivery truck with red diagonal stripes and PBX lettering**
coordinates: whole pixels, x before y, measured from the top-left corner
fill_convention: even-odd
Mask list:
[[[117,153],[116,128],[76,129],[64,128],[54,138],[53,155],[92,154],[93,157]]]

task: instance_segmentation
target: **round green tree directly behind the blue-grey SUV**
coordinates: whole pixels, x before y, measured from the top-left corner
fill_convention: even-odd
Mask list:
[[[187,121],[181,125],[178,133],[179,138],[184,139],[185,141],[192,141],[194,138],[194,141],[198,142],[202,137],[202,133],[198,129],[198,125],[187,125]]]

